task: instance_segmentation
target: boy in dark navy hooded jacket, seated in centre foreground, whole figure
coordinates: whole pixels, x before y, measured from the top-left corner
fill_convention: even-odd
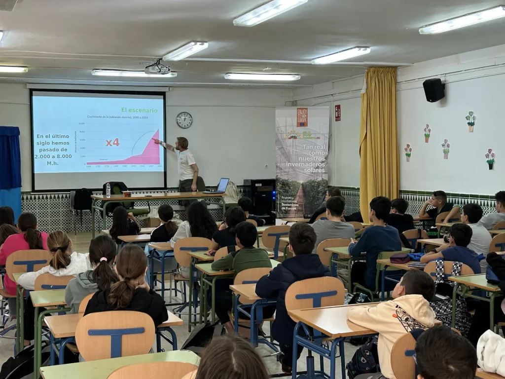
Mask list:
[[[272,324],[272,337],[279,342],[281,355],[279,361],[282,371],[291,373],[293,362],[293,332],[296,323],[286,310],[286,291],[298,280],[330,276],[328,267],[321,263],[319,255],[312,254],[316,245],[316,232],[312,226],[298,222],[289,230],[289,251],[293,257],[286,259],[268,275],[263,276],[256,285],[256,294],[261,298],[277,298],[277,313]],[[298,346],[300,357],[303,348]]]

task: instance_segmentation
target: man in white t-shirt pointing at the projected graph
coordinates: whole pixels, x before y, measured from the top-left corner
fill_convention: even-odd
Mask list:
[[[193,153],[188,150],[188,140],[185,137],[177,137],[175,147],[153,138],[155,144],[163,146],[165,149],[177,154],[177,171],[179,173],[179,191],[195,192],[196,180],[198,178],[198,166],[194,160]]]

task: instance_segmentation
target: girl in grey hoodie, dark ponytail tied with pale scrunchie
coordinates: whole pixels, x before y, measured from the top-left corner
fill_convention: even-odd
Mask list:
[[[98,235],[89,244],[89,262],[91,270],[81,272],[70,280],[65,290],[65,303],[71,308],[70,313],[77,313],[82,299],[97,291],[111,288],[118,281],[114,271],[116,261],[116,243],[108,235]]]

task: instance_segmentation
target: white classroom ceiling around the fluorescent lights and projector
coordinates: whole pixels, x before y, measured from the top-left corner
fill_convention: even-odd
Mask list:
[[[0,65],[26,65],[29,71],[0,75],[45,82],[99,80],[101,84],[104,77],[91,76],[91,69],[142,70],[180,45],[204,40],[209,41],[207,50],[191,60],[169,64],[177,77],[128,78],[128,82],[215,86],[230,84],[224,79],[227,72],[269,72],[300,74],[300,80],[286,83],[299,86],[359,75],[366,65],[277,62],[307,62],[354,46],[371,46],[372,52],[358,59],[413,64],[505,42],[505,19],[438,35],[418,32],[421,26],[505,0],[309,0],[255,27],[233,26],[234,18],[265,2],[19,0],[14,11],[0,11],[0,30],[7,31],[0,42]],[[218,61],[200,60],[209,58]]]

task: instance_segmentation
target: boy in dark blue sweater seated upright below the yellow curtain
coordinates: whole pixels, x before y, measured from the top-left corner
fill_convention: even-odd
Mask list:
[[[398,230],[386,225],[384,219],[391,211],[391,200],[379,196],[370,202],[369,218],[373,223],[363,231],[358,242],[351,240],[349,254],[353,257],[361,253],[366,254],[365,262],[356,262],[351,268],[351,280],[362,286],[375,289],[375,276],[377,275],[377,257],[383,251],[400,251],[401,241]],[[381,283],[381,280],[379,280]]]

